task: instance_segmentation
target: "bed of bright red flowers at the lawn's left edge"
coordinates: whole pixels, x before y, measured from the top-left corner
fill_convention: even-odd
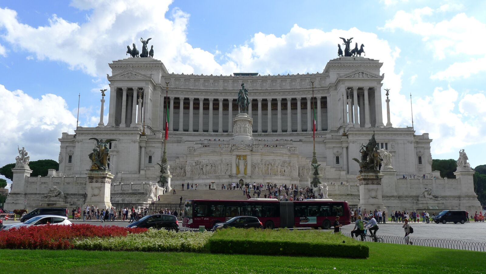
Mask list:
[[[121,226],[22,226],[0,231],[0,248],[27,249],[69,249],[71,239],[91,237],[126,236],[142,233],[146,228],[126,228]]]

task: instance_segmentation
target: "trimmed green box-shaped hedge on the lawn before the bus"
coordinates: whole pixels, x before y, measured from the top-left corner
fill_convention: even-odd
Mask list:
[[[318,230],[228,228],[209,238],[211,253],[368,258],[369,248],[341,234]]]

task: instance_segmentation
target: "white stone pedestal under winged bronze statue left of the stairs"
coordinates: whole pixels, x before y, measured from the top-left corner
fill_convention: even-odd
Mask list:
[[[111,208],[111,179],[113,175],[107,170],[89,170],[86,185],[86,206],[97,206],[100,209]]]

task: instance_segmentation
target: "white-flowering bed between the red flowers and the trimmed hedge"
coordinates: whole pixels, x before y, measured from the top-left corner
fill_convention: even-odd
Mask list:
[[[145,233],[125,237],[76,239],[72,243],[75,249],[85,250],[200,252],[212,234],[149,229]]]

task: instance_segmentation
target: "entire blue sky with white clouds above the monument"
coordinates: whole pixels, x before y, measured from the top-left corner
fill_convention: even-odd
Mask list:
[[[62,131],[99,120],[98,90],[126,45],[152,37],[170,72],[322,72],[339,37],[383,62],[392,123],[429,132],[434,159],[484,158],[486,2],[11,1],[0,2],[0,166],[17,145],[57,160]],[[107,113],[107,110],[105,111]],[[2,136],[3,135],[3,136]]]

